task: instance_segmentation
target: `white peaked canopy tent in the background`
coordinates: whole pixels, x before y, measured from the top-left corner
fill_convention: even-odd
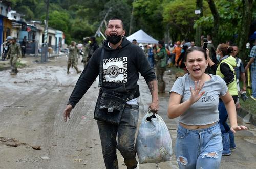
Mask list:
[[[143,30],[139,30],[135,33],[133,33],[132,35],[130,35],[129,37],[127,37],[127,39],[132,42],[133,39],[137,40],[137,43],[158,43],[158,40],[152,38],[151,36],[147,35]]]

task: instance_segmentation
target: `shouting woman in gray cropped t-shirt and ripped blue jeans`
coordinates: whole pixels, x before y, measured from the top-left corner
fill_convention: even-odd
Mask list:
[[[174,83],[168,105],[168,117],[180,117],[176,140],[179,168],[219,168],[222,156],[219,98],[227,108],[231,131],[247,127],[237,124],[236,106],[225,81],[204,73],[208,65],[205,50],[188,49],[185,65],[189,73]]]

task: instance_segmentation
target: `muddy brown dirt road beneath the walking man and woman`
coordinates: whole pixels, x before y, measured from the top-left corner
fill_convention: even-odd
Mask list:
[[[96,121],[93,119],[98,94],[98,79],[72,111],[71,119],[63,121],[63,109],[79,74],[67,72],[67,57],[27,57],[27,65],[16,76],[0,71],[0,168],[105,168]],[[82,69],[79,60],[79,69]],[[165,74],[166,93],[159,95],[159,114],[164,119],[175,146],[178,118],[166,116],[168,94],[175,81]],[[140,118],[151,102],[143,78],[140,85]],[[245,124],[239,119],[240,124]],[[237,149],[223,157],[221,168],[255,168],[256,129],[245,124],[249,131],[236,134]],[[126,168],[118,152],[119,168]],[[157,168],[156,164],[141,164],[140,168]],[[178,168],[175,149],[170,162],[158,168]]]

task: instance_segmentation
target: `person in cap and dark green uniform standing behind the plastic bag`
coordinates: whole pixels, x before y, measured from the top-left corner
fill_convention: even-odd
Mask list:
[[[158,82],[158,93],[165,93],[165,81],[163,80],[163,74],[166,70],[166,59],[167,52],[164,47],[164,41],[158,41],[158,47],[160,50],[157,50],[155,54],[155,59],[157,61],[157,82]]]

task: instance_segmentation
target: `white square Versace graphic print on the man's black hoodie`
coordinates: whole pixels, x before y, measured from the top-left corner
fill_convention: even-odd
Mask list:
[[[103,82],[127,82],[127,57],[103,60]]]

